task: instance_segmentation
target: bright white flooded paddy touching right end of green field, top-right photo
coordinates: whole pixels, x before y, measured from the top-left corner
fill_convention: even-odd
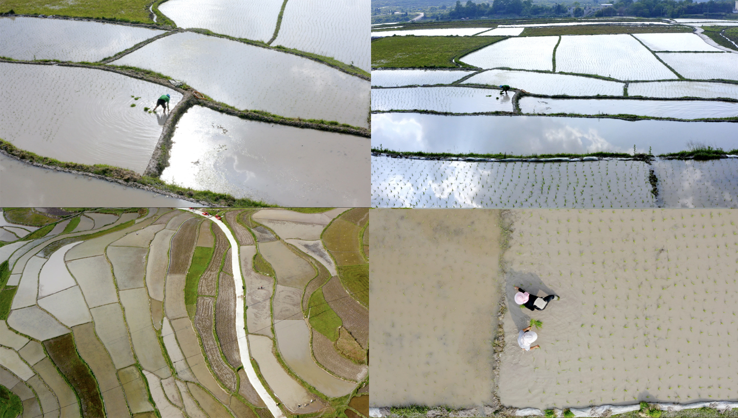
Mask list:
[[[558,36],[508,38],[485,46],[459,60],[483,69],[508,67],[551,71]]]

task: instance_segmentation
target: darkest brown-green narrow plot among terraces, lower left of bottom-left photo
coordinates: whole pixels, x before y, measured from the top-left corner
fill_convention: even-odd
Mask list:
[[[104,417],[103,397],[87,363],[77,354],[72,334],[61,335],[44,341],[49,357],[54,361],[66,380],[75,389],[82,405],[83,417]]]

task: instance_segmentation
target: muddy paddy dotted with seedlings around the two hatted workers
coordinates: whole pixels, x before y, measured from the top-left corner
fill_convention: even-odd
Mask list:
[[[511,220],[503,404],[736,399],[737,211],[525,210]],[[514,285],[561,302],[518,310]],[[531,353],[516,342],[528,316],[543,322]]]

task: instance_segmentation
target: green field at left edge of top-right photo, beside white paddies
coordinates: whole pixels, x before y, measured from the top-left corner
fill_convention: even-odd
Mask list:
[[[387,68],[457,68],[455,58],[503,36],[390,36],[371,43],[371,66]],[[463,66],[471,67],[467,64]]]

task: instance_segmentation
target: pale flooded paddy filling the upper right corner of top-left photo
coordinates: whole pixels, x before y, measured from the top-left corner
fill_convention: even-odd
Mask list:
[[[335,58],[370,72],[369,7],[369,0],[288,1],[272,45]]]

